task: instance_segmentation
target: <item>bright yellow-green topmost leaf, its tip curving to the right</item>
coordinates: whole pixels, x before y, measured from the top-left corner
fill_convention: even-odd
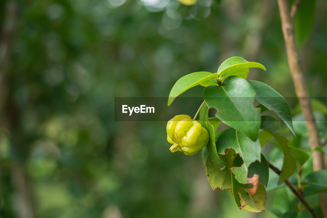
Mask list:
[[[246,79],[249,73],[250,67],[258,67],[263,70],[266,70],[266,68],[259,63],[256,62],[248,62],[247,60],[241,58],[241,57],[232,57],[224,61],[218,68],[217,73],[219,77],[221,78],[224,74],[222,82],[229,76],[238,76],[243,79]]]

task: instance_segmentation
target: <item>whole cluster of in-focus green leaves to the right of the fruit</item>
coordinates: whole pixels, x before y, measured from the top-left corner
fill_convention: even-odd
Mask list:
[[[191,82],[185,82],[180,89],[186,90],[185,87],[189,89],[194,86],[193,84],[203,83],[204,80],[210,81],[203,85],[205,86],[203,91],[205,103],[199,108],[199,122],[207,129],[210,137],[207,146],[202,149],[202,161],[206,166],[209,183],[213,190],[228,189],[240,209],[260,212],[265,210],[266,187],[269,178],[268,162],[261,154],[261,147],[274,138],[277,141],[274,145],[277,150],[282,151],[284,156],[279,176],[272,176],[275,184],[269,187],[270,190],[284,187],[281,184],[293,175],[297,162],[299,169],[302,169],[309,159],[309,154],[303,149],[288,146],[289,140],[282,136],[275,117],[261,116],[261,113],[269,110],[275,112],[293,136],[296,136],[291,110],[286,100],[265,83],[246,81],[248,67],[265,69],[261,64],[233,57],[221,64],[218,69],[219,77],[215,78],[217,83],[214,85],[211,85],[214,82],[210,80],[212,78],[208,73],[209,76],[204,74],[202,78],[197,78],[197,82],[193,79],[190,80]],[[223,75],[225,75],[224,80],[221,80]],[[179,81],[176,84],[181,84]],[[179,87],[176,84],[171,93]],[[254,100],[260,105],[254,107]],[[168,104],[169,102],[171,101],[168,100]],[[209,117],[209,108],[216,109],[215,118]],[[220,122],[231,128],[215,133]],[[301,140],[301,137],[298,138]],[[306,166],[303,169],[306,169]],[[302,184],[321,186],[322,182],[319,183],[318,178],[324,175],[327,175],[324,171],[310,173],[304,178]],[[309,195],[324,190],[322,188],[305,189]],[[283,213],[283,211],[276,210],[276,213],[282,217],[298,216],[292,211]],[[305,215],[306,212],[299,213],[300,217]]]

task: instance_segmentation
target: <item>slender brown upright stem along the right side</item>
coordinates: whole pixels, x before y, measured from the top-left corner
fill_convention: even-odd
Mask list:
[[[310,142],[313,160],[313,171],[322,170],[324,168],[324,156],[322,152],[315,150],[320,147],[319,132],[313,116],[310,98],[306,89],[303,71],[301,69],[301,61],[298,49],[295,44],[294,25],[289,14],[287,0],[277,0],[278,8],[281,16],[282,31],[284,35],[288,64],[291,70],[291,75],[295,87],[296,95],[299,99],[301,111],[305,119],[305,124],[308,129],[308,137]],[[320,207],[327,218],[327,195],[326,193],[319,194]]]

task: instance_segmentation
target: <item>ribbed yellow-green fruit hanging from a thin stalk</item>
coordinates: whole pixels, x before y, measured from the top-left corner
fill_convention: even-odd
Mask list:
[[[186,155],[198,153],[209,141],[208,131],[188,115],[176,115],[167,123],[167,141],[173,144],[171,152],[182,151]]]

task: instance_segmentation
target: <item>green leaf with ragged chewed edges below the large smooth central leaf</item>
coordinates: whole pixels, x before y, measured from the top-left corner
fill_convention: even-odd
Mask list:
[[[236,165],[237,168],[233,168],[232,171],[237,175],[235,177],[238,182],[248,183],[248,167],[252,162],[261,160],[260,141],[257,139],[253,142],[240,132],[234,129],[228,129],[218,138],[216,147],[219,154],[225,154],[225,150],[228,148],[232,148],[240,154],[240,160],[238,162],[234,160],[235,164],[239,163],[239,165]]]

